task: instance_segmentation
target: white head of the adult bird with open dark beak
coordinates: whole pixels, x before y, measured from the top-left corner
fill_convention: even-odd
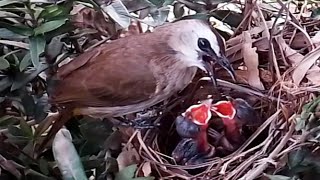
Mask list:
[[[214,62],[228,71],[235,80],[234,69],[225,56],[224,40],[209,23],[199,19],[175,22],[169,44],[177,52],[178,59],[187,66],[196,66],[206,71],[216,85]]]

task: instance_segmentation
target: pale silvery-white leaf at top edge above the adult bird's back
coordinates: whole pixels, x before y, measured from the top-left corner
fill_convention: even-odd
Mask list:
[[[122,28],[129,27],[131,15],[121,0],[113,0],[110,5],[102,4],[101,8]]]

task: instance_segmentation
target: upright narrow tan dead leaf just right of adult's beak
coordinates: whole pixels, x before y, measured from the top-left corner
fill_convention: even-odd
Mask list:
[[[264,90],[264,86],[260,81],[259,77],[259,59],[256,52],[257,48],[252,47],[251,35],[248,31],[243,32],[243,44],[242,44],[242,54],[243,60],[248,68],[248,83],[249,85]]]

